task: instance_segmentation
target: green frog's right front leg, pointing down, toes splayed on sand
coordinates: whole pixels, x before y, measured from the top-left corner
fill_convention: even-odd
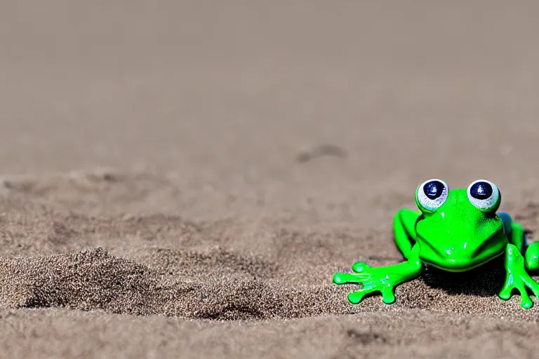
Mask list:
[[[507,271],[505,285],[498,297],[508,300],[512,297],[513,291],[518,290],[521,296],[522,308],[531,308],[533,301],[528,295],[527,289],[531,290],[533,295],[539,298],[539,284],[526,272],[524,258],[517,247],[512,244],[507,245],[505,252],[505,270]]]

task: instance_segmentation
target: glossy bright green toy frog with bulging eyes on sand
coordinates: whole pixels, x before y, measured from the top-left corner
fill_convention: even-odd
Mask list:
[[[406,261],[380,267],[357,262],[353,273],[335,273],[333,283],[363,285],[348,295],[352,304],[373,292],[390,304],[394,287],[418,278],[425,266],[463,272],[503,255],[507,276],[498,297],[510,299],[517,290],[521,307],[531,308],[526,288],[539,297],[539,284],[528,274],[539,269],[539,242],[526,243],[523,227],[506,212],[496,212],[500,201],[500,190],[486,179],[467,189],[449,189],[441,179],[429,179],[415,191],[420,211],[405,208],[394,217],[395,242]]]

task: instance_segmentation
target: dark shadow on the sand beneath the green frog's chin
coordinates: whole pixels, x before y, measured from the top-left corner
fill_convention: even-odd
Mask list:
[[[421,278],[427,287],[443,290],[449,295],[492,297],[500,292],[505,282],[504,258],[500,256],[475,269],[460,273],[427,266]]]

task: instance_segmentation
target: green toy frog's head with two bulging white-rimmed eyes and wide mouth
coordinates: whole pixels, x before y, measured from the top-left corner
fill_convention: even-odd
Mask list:
[[[503,222],[496,214],[501,195],[486,179],[467,189],[449,189],[429,179],[415,191],[422,212],[415,224],[420,259],[445,271],[467,271],[501,255],[507,245]]]

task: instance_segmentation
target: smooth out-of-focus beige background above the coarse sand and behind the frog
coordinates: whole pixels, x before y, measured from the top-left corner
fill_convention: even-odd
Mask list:
[[[153,173],[175,201],[133,211],[298,224],[390,225],[431,177],[539,199],[538,10],[5,0],[0,171]]]

